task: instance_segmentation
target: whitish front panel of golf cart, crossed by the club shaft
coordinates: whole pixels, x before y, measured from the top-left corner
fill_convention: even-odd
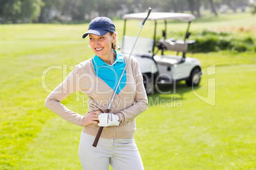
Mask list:
[[[136,37],[124,36],[122,40],[122,53],[129,54],[131,52],[132,46],[136,41]],[[150,56],[153,47],[153,39],[146,37],[139,37],[136,46],[132,52],[132,55],[137,56]]]

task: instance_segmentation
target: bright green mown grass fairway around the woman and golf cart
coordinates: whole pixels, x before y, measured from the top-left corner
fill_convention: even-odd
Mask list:
[[[222,15],[198,20],[191,29],[226,29],[255,39],[255,19],[250,14]],[[121,40],[123,22],[115,23]],[[152,34],[153,23],[146,24],[141,36]],[[131,22],[134,34],[137,26]],[[170,25],[185,30],[182,26]],[[60,119],[43,103],[76,64],[93,56],[88,39],[82,39],[87,28],[88,24],[0,25],[0,169],[81,169],[82,128]],[[148,96],[150,107],[136,119],[135,140],[145,169],[255,169],[256,54],[188,56],[202,62],[200,86],[193,91],[181,82],[175,93],[173,86],[161,87],[171,93]],[[208,75],[207,68],[214,64],[215,74]],[[210,79],[215,86],[208,84]],[[216,91],[214,96],[208,96],[208,87]],[[214,105],[196,94],[211,97]],[[62,103],[85,114],[86,100],[76,93]]]

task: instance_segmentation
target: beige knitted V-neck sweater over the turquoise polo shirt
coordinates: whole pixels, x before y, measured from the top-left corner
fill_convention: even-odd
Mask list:
[[[128,56],[123,55],[125,63]],[[115,95],[110,112],[117,114],[120,126],[103,129],[101,138],[133,138],[136,129],[135,117],[148,108],[148,100],[143,86],[143,77],[138,62],[131,56],[126,67],[126,84],[118,95]],[[69,110],[62,103],[68,95],[81,91],[89,96],[89,111],[106,112],[113,96],[113,89],[96,76],[92,58],[76,65],[66,79],[55,88],[45,100],[45,106],[66,121],[82,126],[83,115]],[[83,132],[96,136],[99,126],[83,126]]]

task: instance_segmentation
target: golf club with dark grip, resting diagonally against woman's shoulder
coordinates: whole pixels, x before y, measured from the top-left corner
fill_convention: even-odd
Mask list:
[[[114,98],[115,98],[115,94],[117,93],[118,86],[119,86],[119,84],[120,84],[120,82],[121,82],[121,80],[122,80],[122,77],[123,77],[123,75],[124,75],[125,69],[126,69],[126,67],[127,67],[127,63],[129,62],[129,60],[130,60],[130,58],[131,58],[132,51],[133,51],[133,49],[134,49],[134,47],[135,47],[135,44],[136,44],[136,42],[137,42],[137,40],[138,40],[139,34],[141,33],[141,29],[142,29],[143,25],[145,24],[146,19],[148,19],[148,16],[150,15],[151,11],[152,11],[152,8],[148,8],[148,15],[146,16],[146,18],[143,20],[143,23],[141,24],[141,28],[139,29],[138,36],[136,37],[136,40],[135,40],[135,42],[134,42],[134,44],[133,44],[133,46],[132,46],[131,53],[129,54],[128,60],[127,60],[127,62],[126,62],[126,64],[125,64],[125,67],[124,67],[124,70],[123,70],[123,72],[122,72],[122,75],[120,76],[120,79],[119,79],[119,81],[118,81],[117,87],[115,88],[115,92],[114,92],[114,94],[113,94],[113,96],[112,96],[112,98],[111,98],[110,105],[108,106],[108,109],[106,110],[106,113],[109,113],[109,112],[110,112],[110,107],[111,107],[112,102],[113,102],[113,100],[114,100]],[[98,143],[98,141],[99,141],[99,138],[101,137],[101,133],[102,133],[102,131],[103,131],[103,128],[104,128],[103,126],[99,127],[99,130],[98,130],[98,132],[97,132],[97,135],[96,135],[96,138],[95,138],[95,140],[94,140],[94,143],[92,144],[93,147],[97,147],[97,143]]]

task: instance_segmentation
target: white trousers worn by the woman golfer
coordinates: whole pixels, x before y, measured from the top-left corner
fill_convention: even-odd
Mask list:
[[[143,170],[143,163],[136,143],[131,139],[100,138],[97,147],[92,147],[95,136],[81,134],[79,158],[83,170]]]

